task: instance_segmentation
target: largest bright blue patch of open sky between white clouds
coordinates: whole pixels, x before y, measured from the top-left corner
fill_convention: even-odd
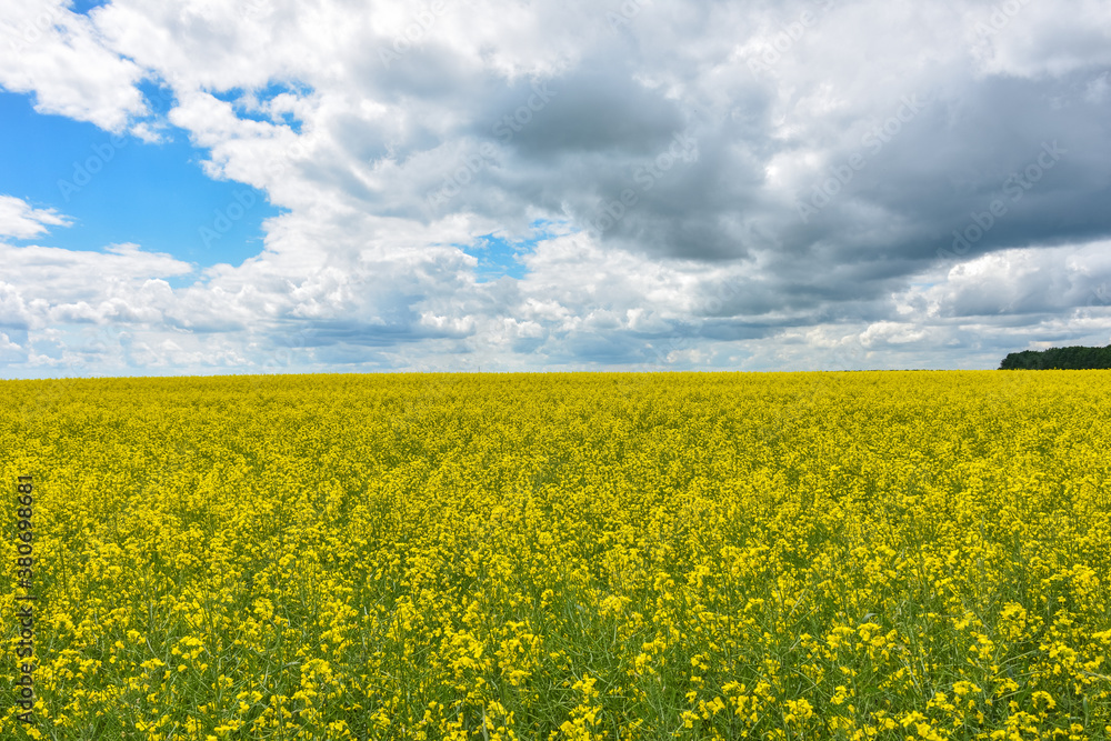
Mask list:
[[[199,267],[239,264],[262,250],[262,221],[279,210],[262,191],[207,177],[200,167],[204,152],[189,144],[187,132],[170,130],[166,142],[147,143],[92,123],[36,113],[32,104],[30,96],[0,93],[6,133],[0,139],[0,192],[70,218],[71,227],[51,232],[52,247],[102,250],[136,242]],[[229,209],[237,216],[240,203],[251,206],[240,219],[228,219]],[[37,241],[41,243],[16,243]]]

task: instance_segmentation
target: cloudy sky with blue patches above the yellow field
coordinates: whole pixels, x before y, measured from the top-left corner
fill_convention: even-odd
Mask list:
[[[0,50],[0,378],[1111,343],[1105,0],[21,0]]]

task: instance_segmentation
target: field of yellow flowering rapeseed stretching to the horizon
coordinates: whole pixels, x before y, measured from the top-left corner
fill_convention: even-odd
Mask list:
[[[1111,739],[1109,389],[3,381],[0,738]]]

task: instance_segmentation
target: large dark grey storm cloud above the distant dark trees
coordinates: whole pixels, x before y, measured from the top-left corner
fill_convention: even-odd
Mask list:
[[[922,112],[890,142],[865,136],[857,150],[829,158],[800,193],[812,209],[808,223],[784,241],[810,256],[815,244],[839,242],[843,251],[829,253],[839,263],[862,244],[865,253],[908,260],[911,272],[935,261],[939,249],[964,257],[1107,236],[1111,138],[1103,122],[1111,121],[1111,100],[1084,98],[1079,83],[1090,76],[992,78],[948,97],[930,91]],[[870,152],[852,171],[851,158]],[[901,234],[869,243],[883,224]]]

